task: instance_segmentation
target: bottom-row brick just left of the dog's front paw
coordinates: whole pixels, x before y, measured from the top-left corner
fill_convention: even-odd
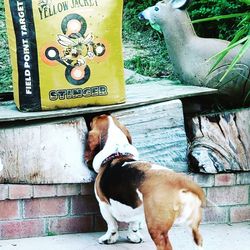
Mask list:
[[[49,221],[48,232],[84,233],[93,231],[93,215],[73,218],[53,218]]]

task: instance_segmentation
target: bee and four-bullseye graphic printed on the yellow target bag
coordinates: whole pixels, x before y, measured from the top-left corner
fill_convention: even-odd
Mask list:
[[[65,78],[72,85],[86,83],[91,76],[90,60],[103,58],[106,54],[104,43],[95,42],[92,33],[86,33],[87,22],[79,14],[69,14],[61,22],[62,34],[57,35],[57,46],[53,43],[41,52],[42,60],[52,66],[65,66]],[[60,48],[58,48],[60,46]]]

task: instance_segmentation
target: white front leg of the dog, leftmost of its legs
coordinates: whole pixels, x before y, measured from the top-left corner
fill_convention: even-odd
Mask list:
[[[99,205],[102,217],[107,223],[108,231],[98,241],[100,244],[113,244],[119,237],[118,224],[109,210],[109,205],[105,202],[100,202]]]

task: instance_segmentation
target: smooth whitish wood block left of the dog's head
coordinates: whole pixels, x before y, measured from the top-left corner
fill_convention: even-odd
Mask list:
[[[0,183],[84,183],[84,118],[0,129]]]

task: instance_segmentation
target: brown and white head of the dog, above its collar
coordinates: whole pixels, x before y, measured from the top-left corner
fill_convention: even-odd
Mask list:
[[[86,163],[99,172],[103,161],[115,153],[138,157],[136,148],[132,146],[131,135],[124,125],[113,116],[94,117],[86,140],[84,154]]]

